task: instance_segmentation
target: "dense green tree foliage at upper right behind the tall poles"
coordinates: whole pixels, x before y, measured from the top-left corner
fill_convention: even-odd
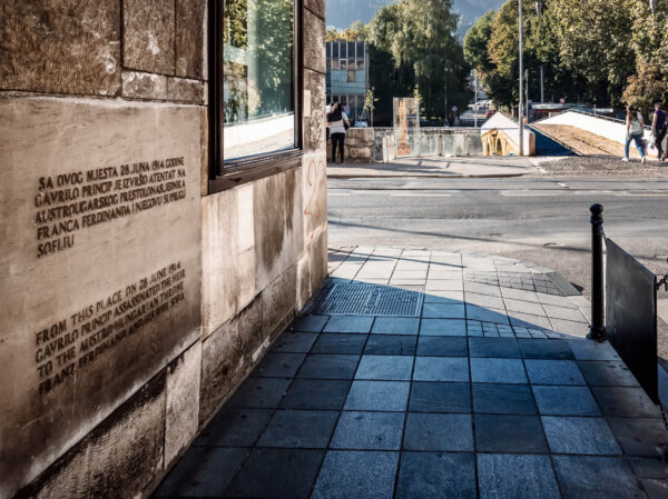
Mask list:
[[[533,2],[525,0],[530,98],[538,97],[542,66],[548,100],[620,106],[626,99],[651,99],[668,80],[668,3],[659,3],[652,14],[647,0],[543,0],[543,13],[537,17]],[[469,62],[481,71],[483,87],[499,106],[519,100],[518,10],[518,0],[508,0],[464,39]]]

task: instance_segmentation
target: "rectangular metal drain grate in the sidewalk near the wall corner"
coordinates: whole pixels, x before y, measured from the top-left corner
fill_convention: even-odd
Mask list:
[[[312,313],[419,317],[423,298],[422,286],[334,285]]]

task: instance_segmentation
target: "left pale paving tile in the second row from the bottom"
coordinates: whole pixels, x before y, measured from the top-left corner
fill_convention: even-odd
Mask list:
[[[403,423],[401,412],[344,411],[330,448],[399,450]]]

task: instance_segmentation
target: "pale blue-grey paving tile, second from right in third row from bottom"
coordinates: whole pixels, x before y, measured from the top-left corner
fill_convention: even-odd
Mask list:
[[[533,386],[532,388],[541,415],[601,416],[587,387]]]

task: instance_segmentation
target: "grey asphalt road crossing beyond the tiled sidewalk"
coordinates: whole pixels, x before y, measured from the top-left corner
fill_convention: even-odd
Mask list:
[[[561,272],[588,296],[593,202],[605,207],[609,238],[668,272],[668,179],[330,180],[330,247],[501,255]]]

